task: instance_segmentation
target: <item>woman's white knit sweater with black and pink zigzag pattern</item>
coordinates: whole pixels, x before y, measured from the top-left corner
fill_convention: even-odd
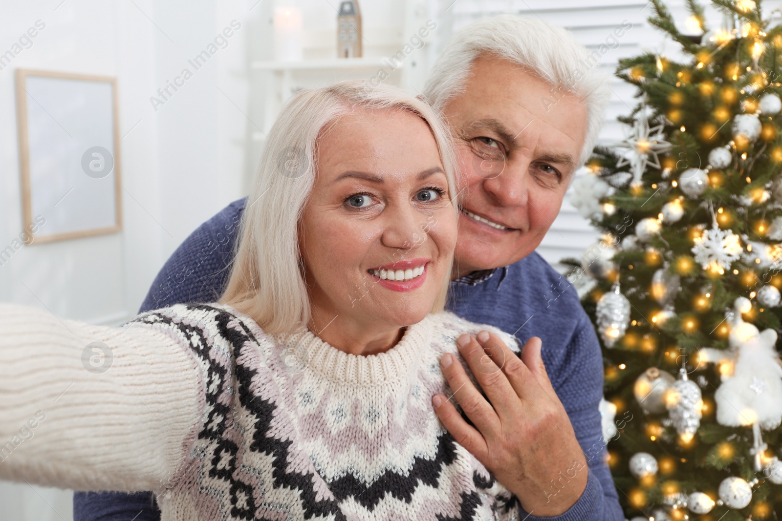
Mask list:
[[[470,374],[455,339],[481,329],[518,352],[449,312],[356,356],[228,305],[118,328],[0,305],[0,478],[153,490],[163,521],[520,519],[431,405],[440,356]]]

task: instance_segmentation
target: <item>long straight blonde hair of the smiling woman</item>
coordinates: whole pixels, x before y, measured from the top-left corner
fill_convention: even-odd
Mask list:
[[[239,224],[228,286],[219,301],[253,317],[267,333],[293,332],[310,321],[297,227],[314,186],[317,138],[357,109],[405,110],[424,120],[439,150],[448,192],[451,198],[456,194],[450,132],[425,102],[398,87],[371,86],[364,80],[297,92],[271,127]],[[455,200],[451,206],[457,212]],[[432,311],[445,305],[450,266],[446,278]]]

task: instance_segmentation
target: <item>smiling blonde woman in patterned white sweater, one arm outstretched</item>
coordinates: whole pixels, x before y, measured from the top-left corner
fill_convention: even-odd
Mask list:
[[[452,154],[402,91],[301,91],[219,302],[117,328],[0,305],[0,478],[153,490],[164,520],[516,519],[432,412],[441,357],[493,330],[442,311]]]

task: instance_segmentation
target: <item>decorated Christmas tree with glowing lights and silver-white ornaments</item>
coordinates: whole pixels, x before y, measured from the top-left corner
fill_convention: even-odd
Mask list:
[[[604,355],[608,464],[630,519],[782,519],[782,26],[712,0],[683,59],[619,62],[638,104],[572,202],[603,232],[565,259]]]

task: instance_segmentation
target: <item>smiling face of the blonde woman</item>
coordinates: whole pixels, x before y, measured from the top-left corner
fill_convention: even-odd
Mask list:
[[[421,321],[446,284],[457,234],[427,124],[403,110],[357,110],[318,138],[316,167],[300,220],[315,325]]]

